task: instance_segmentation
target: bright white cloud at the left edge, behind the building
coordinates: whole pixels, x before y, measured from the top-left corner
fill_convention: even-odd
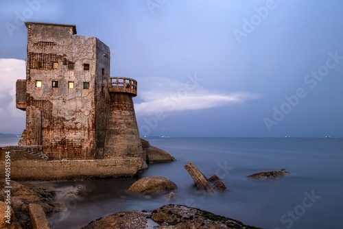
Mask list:
[[[21,134],[25,112],[16,109],[16,80],[25,79],[25,61],[0,59],[0,132]]]

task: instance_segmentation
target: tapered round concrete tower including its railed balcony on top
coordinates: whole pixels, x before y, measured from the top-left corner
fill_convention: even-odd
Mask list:
[[[110,110],[104,158],[118,156],[143,158],[143,148],[132,101],[132,97],[137,96],[137,81],[125,77],[110,77],[108,90]]]

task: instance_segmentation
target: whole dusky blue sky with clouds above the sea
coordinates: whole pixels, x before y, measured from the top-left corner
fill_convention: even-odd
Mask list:
[[[21,133],[22,21],[75,24],[139,82],[146,136],[343,136],[343,2],[0,2],[0,132]]]

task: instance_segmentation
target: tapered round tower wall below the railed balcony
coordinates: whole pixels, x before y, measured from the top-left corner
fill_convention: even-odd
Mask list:
[[[143,158],[132,97],[128,93],[110,93],[110,116],[106,134],[105,158],[133,156]]]

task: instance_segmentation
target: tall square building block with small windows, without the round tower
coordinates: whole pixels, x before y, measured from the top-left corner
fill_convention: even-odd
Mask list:
[[[110,50],[97,38],[75,36],[75,30],[27,23],[25,145],[41,144],[56,160],[95,158],[106,134]],[[36,110],[42,112],[41,139]]]

